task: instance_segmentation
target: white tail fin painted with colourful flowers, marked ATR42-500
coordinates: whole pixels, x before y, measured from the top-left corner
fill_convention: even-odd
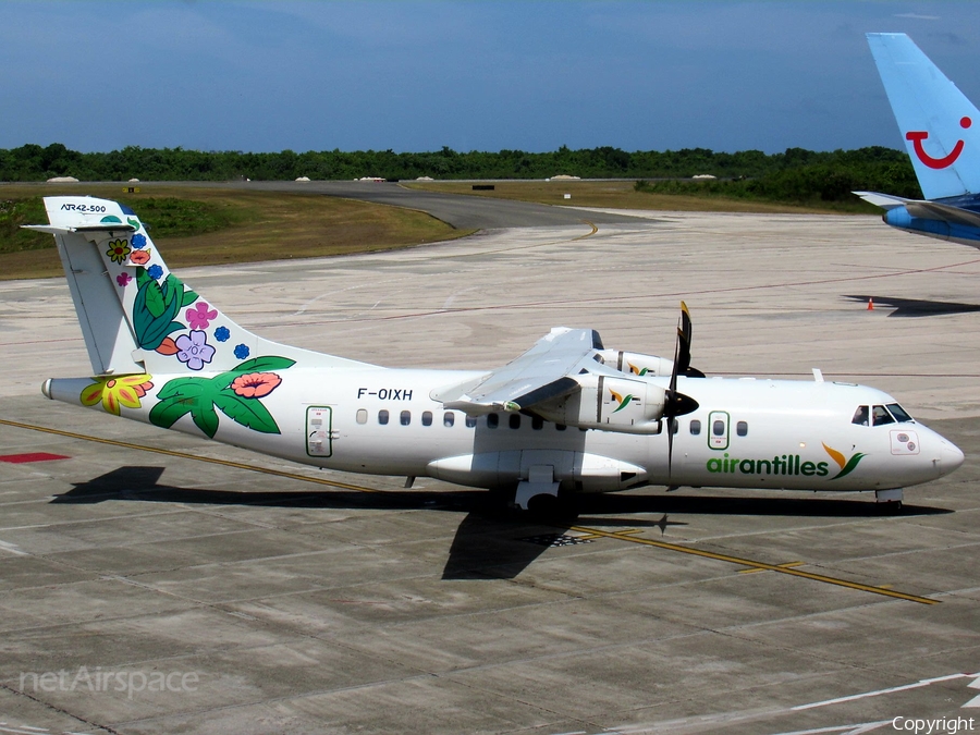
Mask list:
[[[303,367],[364,363],[277,344],[240,327],[170,272],[136,213],[117,201],[45,197],[94,375],[221,372],[266,356]]]

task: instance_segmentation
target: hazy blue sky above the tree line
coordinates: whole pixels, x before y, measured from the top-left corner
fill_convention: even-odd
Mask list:
[[[966,0],[0,0],[0,148],[903,148],[866,32],[980,102]]]

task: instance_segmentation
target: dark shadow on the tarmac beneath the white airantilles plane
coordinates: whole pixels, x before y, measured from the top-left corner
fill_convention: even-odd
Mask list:
[[[488,491],[201,490],[160,485],[163,469],[148,466],[119,467],[88,482],[74,483],[74,488],[56,495],[51,502],[87,504],[138,501],[257,507],[426,510],[465,513],[450,548],[442,573],[443,579],[513,579],[549,547],[583,542],[580,535],[566,535],[573,526],[660,528],[661,536],[665,536],[669,527],[687,525],[678,520],[669,520],[672,514],[855,518],[873,518],[880,515],[875,503],[867,500],[597,494],[576,497],[574,505],[571,506],[572,513],[538,519],[509,509],[502,494]],[[659,519],[635,517],[642,513],[662,514],[662,517]],[[908,504],[902,509],[902,515],[906,516],[945,513],[952,511]]]

